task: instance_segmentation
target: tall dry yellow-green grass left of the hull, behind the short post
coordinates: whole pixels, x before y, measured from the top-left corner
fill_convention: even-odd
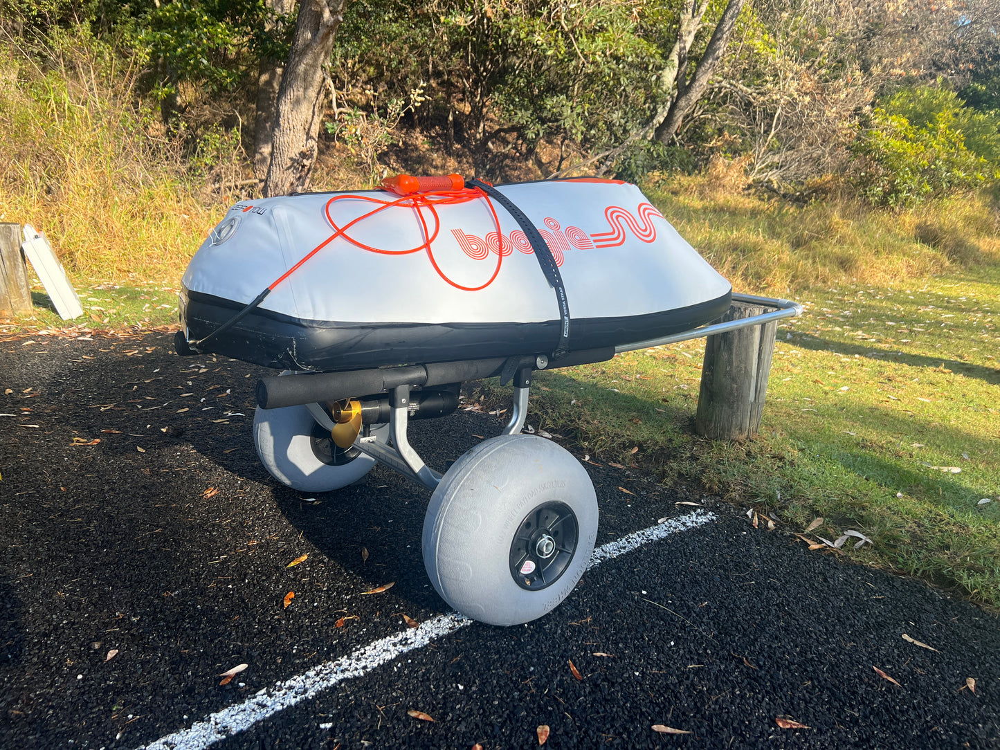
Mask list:
[[[177,139],[136,105],[137,63],[79,32],[3,42],[0,221],[45,231],[74,276],[176,278],[229,201],[200,199]]]

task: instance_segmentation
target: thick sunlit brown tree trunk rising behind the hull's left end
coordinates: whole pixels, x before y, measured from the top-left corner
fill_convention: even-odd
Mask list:
[[[344,0],[303,0],[275,113],[271,161],[263,194],[305,190],[316,161],[325,70],[342,20]]]

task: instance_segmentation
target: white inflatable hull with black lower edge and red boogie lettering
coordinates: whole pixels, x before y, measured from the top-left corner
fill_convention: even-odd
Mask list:
[[[634,185],[579,179],[497,190],[539,229],[559,265],[570,350],[689,330],[727,309],[729,282]],[[312,193],[233,206],[184,274],[186,338],[212,334],[273,285],[204,350],[323,371],[553,352],[563,332],[559,304],[500,205],[491,210],[477,198],[419,214],[394,206],[351,225],[375,207],[370,200],[395,197]],[[336,233],[345,226],[350,239]],[[420,247],[425,232],[429,250]]]

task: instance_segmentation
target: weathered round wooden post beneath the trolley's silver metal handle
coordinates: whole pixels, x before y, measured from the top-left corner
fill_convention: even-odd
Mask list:
[[[770,309],[734,302],[722,320],[742,320]],[[774,321],[708,337],[695,416],[699,435],[744,440],[757,433],[777,331]]]

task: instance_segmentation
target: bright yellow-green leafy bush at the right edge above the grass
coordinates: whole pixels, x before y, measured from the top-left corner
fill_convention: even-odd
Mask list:
[[[854,145],[861,195],[909,206],[1000,178],[1000,120],[948,90],[904,89],[874,110]]]

